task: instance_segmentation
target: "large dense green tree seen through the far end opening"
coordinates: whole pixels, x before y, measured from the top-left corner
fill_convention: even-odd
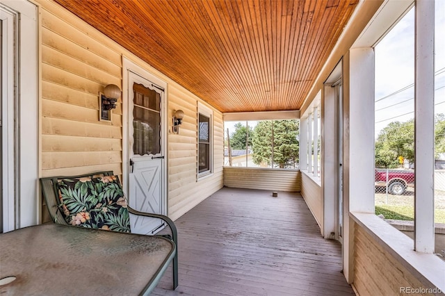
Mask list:
[[[273,131],[273,132],[272,132]],[[298,120],[261,121],[252,137],[253,161],[257,165],[273,163],[280,168],[294,167],[298,163]]]

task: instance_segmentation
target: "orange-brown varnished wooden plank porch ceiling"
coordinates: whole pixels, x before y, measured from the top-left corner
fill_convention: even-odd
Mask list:
[[[222,112],[298,110],[358,0],[56,0]]]

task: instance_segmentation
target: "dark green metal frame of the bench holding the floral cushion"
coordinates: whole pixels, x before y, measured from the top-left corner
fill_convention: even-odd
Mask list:
[[[82,178],[82,177],[97,177],[97,176],[113,176],[113,171],[105,171],[105,172],[95,172],[92,174],[82,174],[79,176],[52,176],[47,178],[40,178],[40,185],[42,186],[42,194],[44,196],[45,202],[47,204],[49,215],[51,216],[51,220],[54,223],[58,224],[65,224],[67,225],[67,222],[65,221],[65,217],[60,211],[59,207],[59,201],[58,201],[58,186],[57,181],[60,179],[75,179],[75,178]],[[175,256],[172,259],[173,262],[173,289],[175,290],[178,286],[178,251],[177,251],[177,229],[175,226],[175,223],[167,216],[165,215],[159,215],[154,213],[144,213],[140,211],[136,211],[135,209],[131,208],[130,206],[127,206],[129,213],[133,215],[139,215],[144,217],[154,217],[159,218],[170,227],[170,231],[172,233],[172,236],[170,237],[170,240],[175,244],[176,251]],[[165,237],[165,236],[163,236]],[[170,261],[165,262],[165,267],[170,264]],[[156,287],[157,283],[161,277],[158,279],[151,279],[150,280],[150,288],[147,290],[152,290],[154,287]]]

